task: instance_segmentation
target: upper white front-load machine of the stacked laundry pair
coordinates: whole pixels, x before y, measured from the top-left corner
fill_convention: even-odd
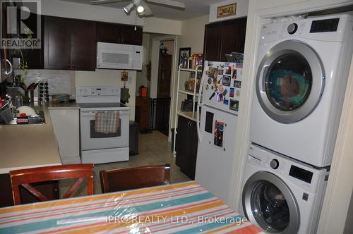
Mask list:
[[[330,165],[352,51],[349,15],[262,25],[251,142]]]

